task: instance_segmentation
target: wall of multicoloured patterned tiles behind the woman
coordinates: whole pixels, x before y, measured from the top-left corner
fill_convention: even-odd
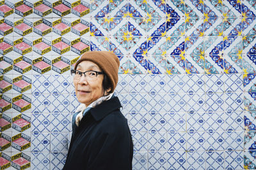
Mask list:
[[[63,167],[87,50],[120,58],[133,169],[256,169],[255,0],[0,2],[2,169]]]

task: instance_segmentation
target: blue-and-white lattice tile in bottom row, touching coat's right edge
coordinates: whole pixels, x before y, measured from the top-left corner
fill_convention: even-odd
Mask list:
[[[132,170],[147,170],[148,154],[147,152],[134,152],[132,159]]]

